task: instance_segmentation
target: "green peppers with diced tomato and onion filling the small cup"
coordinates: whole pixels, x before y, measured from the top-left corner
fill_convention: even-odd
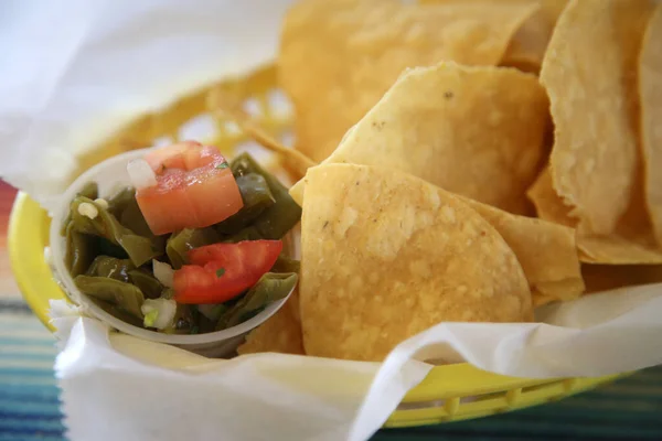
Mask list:
[[[132,185],[109,198],[89,182],[61,232],[76,288],[99,308],[151,331],[200,334],[291,292],[299,262],[282,239],[301,208],[248,153],[227,162],[188,141],[127,171]]]

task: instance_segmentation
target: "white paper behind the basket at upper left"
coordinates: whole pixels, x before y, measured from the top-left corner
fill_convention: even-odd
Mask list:
[[[77,154],[137,115],[273,60],[291,3],[9,2],[0,26],[0,176],[52,208]]]

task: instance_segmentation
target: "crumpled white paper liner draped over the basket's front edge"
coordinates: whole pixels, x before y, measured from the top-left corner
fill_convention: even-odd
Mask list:
[[[52,303],[55,365],[72,440],[365,440],[420,383],[429,359],[499,374],[602,376],[662,363],[662,284],[537,311],[544,323],[441,323],[383,363],[280,354],[209,359],[109,332]],[[103,428],[103,429],[102,429]]]

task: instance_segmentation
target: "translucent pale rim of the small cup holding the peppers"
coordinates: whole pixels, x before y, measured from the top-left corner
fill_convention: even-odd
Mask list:
[[[250,318],[249,320],[237,324],[236,326],[228,327],[223,331],[214,331],[204,334],[164,334],[156,331],[150,331],[145,327],[138,327],[130,323],[127,323],[122,320],[115,318],[113,314],[104,311],[100,306],[98,306],[88,295],[83,294],[76,284],[74,283],[74,279],[71,273],[66,269],[64,263],[64,257],[66,254],[66,245],[64,237],[61,235],[62,226],[64,220],[67,217],[70,211],[70,203],[74,200],[76,194],[90,181],[97,180],[100,172],[107,170],[111,166],[118,168],[122,163],[128,163],[128,161],[141,158],[147,151],[152,150],[153,148],[140,149],[140,150],[131,150],[126,153],[120,153],[118,155],[111,157],[105,161],[99,162],[98,164],[89,168],[84,173],[82,173],[76,180],[66,189],[64,194],[61,196],[57,208],[51,213],[51,228],[50,228],[50,247],[51,247],[51,259],[53,266],[53,276],[57,279],[60,286],[65,291],[65,294],[75,303],[83,306],[86,311],[89,311],[92,315],[99,319],[102,322],[110,325],[111,327],[124,332],[125,334],[129,334],[142,340],[149,340],[158,343],[173,344],[173,345],[201,345],[201,344],[211,344],[211,343],[221,343],[224,341],[229,341],[231,338],[238,337],[253,329],[259,326],[261,323],[267,321],[271,315],[274,315],[285,302],[292,294],[296,286],[292,290],[287,294],[285,299],[273,302],[267,308],[265,308],[257,315]],[[124,185],[114,185],[110,192],[110,196],[114,195],[113,191],[120,190],[119,187],[125,187]],[[291,234],[288,234],[284,240],[291,240]]]

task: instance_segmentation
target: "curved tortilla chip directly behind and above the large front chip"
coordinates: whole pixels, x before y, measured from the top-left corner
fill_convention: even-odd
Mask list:
[[[408,69],[323,162],[398,169],[452,193],[526,213],[544,161],[548,101],[514,68]],[[301,201],[299,182],[290,194]]]

